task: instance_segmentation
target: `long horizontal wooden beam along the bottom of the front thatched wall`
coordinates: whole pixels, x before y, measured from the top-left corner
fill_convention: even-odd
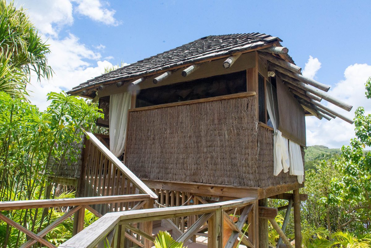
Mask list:
[[[159,180],[142,181],[152,189],[175,190],[179,192],[189,192],[194,195],[204,196],[229,196],[233,198],[256,197],[258,188],[231,187],[227,185],[197,184],[185,182],[167,182]]]

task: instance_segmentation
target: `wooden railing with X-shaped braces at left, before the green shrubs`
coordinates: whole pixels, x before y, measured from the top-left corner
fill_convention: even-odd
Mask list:
[[[55,248],[56,246],[51,244],[49,241],[44,239],[46,234],[56,228],[60,223],[65,221],[68,218],[71,218],[73,214],[77,214],[76,232],[82,231],[84,227],[84,215],[85,209],[88,209],[97,217],[102,215],[97,212],[92,206],[93,205],[112,205],[114,203],[128,203],[135,202],[136,205],[131,209],[140,209],[148,202],[151,202],[151,196],[148,194],[138,194],[138,195],[119,195],[119,196],[101,196],[101,197],[84,197],[84,198],[69,198],[69,199],[46,199],[46,200],[19,200],[19,201],[9,201],[9,202],[0,202],[0,211],[13,211],[19,209],[39,209],[39,208],[57,208],[57,207],[72,207],[60,216],[54,222],[46,226],[42,231],[35,234],[30,231],[23,225],[13,221],[2,213],[0,213],[0,219],[6,222],[9,226],[18,229],[20,232],[23,232],[29,236],[29,241],[22,244],[20,248],[29,248],[36,242],[39,242],[45,247]]]

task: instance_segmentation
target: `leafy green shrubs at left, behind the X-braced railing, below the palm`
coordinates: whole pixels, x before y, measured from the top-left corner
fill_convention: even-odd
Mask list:
[[[96,104],[64,92],[50,93],[51,104],[46,111],[20,98],[0,92],[0,201],[44,198],[73,198],[73,192],[59,193],[51,188],[48,175],[58,170],[65,158],[73,162],[81,151],[74,143],[82,141],[81,127],[90,129],[96,118],[102,117]],[[27,209],[2,213],[24,227],[39,232],[63,215],[66,209]],[[86,221],[95,221],[86,211]],[[18,247],[26,236],[0,222],[2,242]],[[72,219],[68,219],[47,234],[59,245],[70,238]]]

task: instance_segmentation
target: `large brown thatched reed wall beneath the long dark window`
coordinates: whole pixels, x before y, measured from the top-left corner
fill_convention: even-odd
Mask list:
[[[149,180],[247,187],[295,182],[287,173],[273,176],[272,132],[256,123],[255,98],[130,112],[125,165]]]

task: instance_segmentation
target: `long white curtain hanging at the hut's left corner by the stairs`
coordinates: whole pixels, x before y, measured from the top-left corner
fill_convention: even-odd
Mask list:
[[[130,104],[131,92],[114,94],[109,98],[109,150],[116,157],[124,152]]]

